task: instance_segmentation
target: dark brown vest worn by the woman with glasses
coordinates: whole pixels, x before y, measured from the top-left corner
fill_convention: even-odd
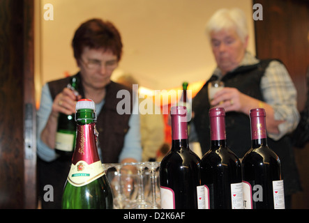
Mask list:
[[[80,73],[77,73],[80,76]],[[50,93],[52,95],[52,100],[60,93],[64,87],[70,82],[70,77],[59,79],[48,83],[50,88]],[[123,98],[116,98],[116,94],[120,90],[130,91],[132,101],[132,91],[121,84],[111,82],[106,86],[105,103],[97,114],[96,128],[99,132],[98,143],[102,151],[103,160],[102,162],[119,162],[119,155],[123,148],[124,137],[129,130],[128,121],[130,114],[118,114],[116,111],[116,106],[118,102],[123,100]],[[82,84],[80,84],[78,92],[84,98],[84,89]],[[132,106],[130,106],[130,111],[132,113]]]

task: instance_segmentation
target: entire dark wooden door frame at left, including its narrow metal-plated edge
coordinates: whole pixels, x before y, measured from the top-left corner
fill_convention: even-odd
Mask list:
[[[0,208],[36,206],[30,195],[36,194],[35,147],[32,159],[24,161],[24,104],[33,102],[31,8],[33,0],[0,1]]]

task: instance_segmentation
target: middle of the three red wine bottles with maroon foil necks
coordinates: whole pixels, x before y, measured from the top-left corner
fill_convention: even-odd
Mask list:
[[[225,110],[209,110],[211,148],[202,157],[201,180],[205,190],[205,208],[243,209],[241,162],[227,147]]]

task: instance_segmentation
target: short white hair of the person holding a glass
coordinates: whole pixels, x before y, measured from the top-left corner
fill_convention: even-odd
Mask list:
[[[245,43],[248,36],[248,26],[243,10],[239,8],[222,8],[217,10],[206,24],[206,34],[209,37],[212,31],[224,29],[234,29],[241,41]]]

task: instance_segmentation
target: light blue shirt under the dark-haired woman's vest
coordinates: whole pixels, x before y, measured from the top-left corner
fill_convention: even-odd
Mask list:
[[[50,95],[50,89],[48,85],[45,84],[42,89],[42,95],[40,99],[40,109],[37,112],[37,153],[38,156],[47,162],[55,160],[57,155],[54,149],[48,147],[41,139],[40,134],[45,128],[50,112],[52,112],[52,95]],[[99,114],[100,110],[104,105],[105,100],[96,104],[96,113]],[[133,105],[133,109],[138,109],[138,103]],[[126,134],[123,142],[123,149],[119,155],[119,162],[125,158],[133,158],[137,161],[142,160],[142,146],[140,144],[140,115],[131,114],[128,125],[130,129]],[[100,148],[98,148],[98,153],[102,160],[102,155],[100,154]]]

